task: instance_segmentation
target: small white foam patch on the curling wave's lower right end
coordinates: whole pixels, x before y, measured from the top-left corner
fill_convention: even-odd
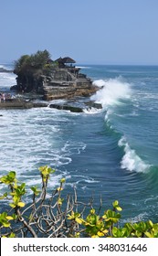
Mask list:
[[[120,147],[124,147],[124,155],[121,159],[122,169],[128,169],[129,171],[136,171],[140,173],[148,171],[151,165],[145,164],[142,161],[141,157],[130,147],[124,136],[121,137],[118,145]]]

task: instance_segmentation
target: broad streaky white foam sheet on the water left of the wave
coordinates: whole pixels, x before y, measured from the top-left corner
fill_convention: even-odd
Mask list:
[[[37,165],[55,168],[68,165],[71,155],[80,154],[86,147],[78,141],[59,139],[61,124],[68,122],[61,112],[57,114],[48,108],[2,112],[0,171],[3,175],[10,170],[16,170],[18,176],[26,172],[32,175]]]

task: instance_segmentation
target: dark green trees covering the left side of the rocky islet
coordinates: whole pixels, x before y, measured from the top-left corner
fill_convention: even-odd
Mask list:
[[[38,91],[42,86],[43,76],[50,76],[58,63],[50,59],[50,53],[45,49],[31,55],[23,55],[15,61],[14,73],[18,91]]]

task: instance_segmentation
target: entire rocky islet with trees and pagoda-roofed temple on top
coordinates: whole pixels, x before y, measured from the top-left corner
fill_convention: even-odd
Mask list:
[[[98,88],[86,75],[79,73],[74,63],[75,60],[68,57],[53,61],[47,50],[22,56],[16,61],[14,70],[17,84],[11,89],[42,94],[47,101],[90,96]]]

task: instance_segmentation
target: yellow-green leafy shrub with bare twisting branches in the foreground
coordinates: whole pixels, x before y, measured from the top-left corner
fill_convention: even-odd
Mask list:
[[[121,206],[112,203],[111,209],[100,214],[93,202],[79,202],[76,189],[73,195],[61,197],[65,178],[60,186],[47,197],[47,182],[54,169],[45,165],[39,168],[41,187],[30,187],[32,202],[26,204],[26,184],[20,183],[16,172],[0,178],[7,191],[0,199],[8,202],[7,210],[0,213],[1,237],[50,237],[50,238],[158,238],[158,223],[151,220],[127,222],[120,226]]]

